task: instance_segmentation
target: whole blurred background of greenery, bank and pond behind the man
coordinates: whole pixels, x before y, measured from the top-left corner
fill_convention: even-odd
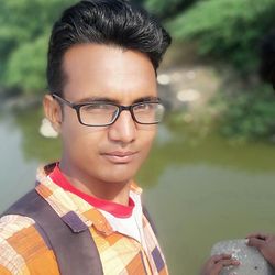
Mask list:
[[[1,1],[1,211],[59,156],[41,99],[52,24],[75,2]],[[275,1],[135,2],[174,40],[157,77],[167,116],[138,182],[170,273],[198,274],[213,243],[275,232]]]

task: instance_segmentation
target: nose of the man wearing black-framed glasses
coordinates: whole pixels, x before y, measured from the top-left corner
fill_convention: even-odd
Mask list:
[[[135,140],[136,123],[129,110],[123,110],[117,121],[109,127],[109,139],[111,141],[129,144]]]

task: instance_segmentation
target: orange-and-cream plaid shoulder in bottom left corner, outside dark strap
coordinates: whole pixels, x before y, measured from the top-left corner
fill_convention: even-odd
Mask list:
[[[51,262],[56,265],[34,220],[19,215],[0,218],[0,274],[37,274],[35,268]]]

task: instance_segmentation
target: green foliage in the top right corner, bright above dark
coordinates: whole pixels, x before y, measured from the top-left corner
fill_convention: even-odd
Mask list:
[[[274,28],[273,0],[204,0],[168,23],[179,41],[196,41],[201,55],[235,65],[239,70],[257,66],[261,38]]]

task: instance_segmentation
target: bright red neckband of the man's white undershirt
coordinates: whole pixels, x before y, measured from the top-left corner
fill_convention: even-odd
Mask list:
[[[64,190],[70,191],[87,202],[89,202],[91,206],[102,209],[111,215],[113,215],[117,218],[129,218],[132,215],[133,208],[134,208],[134,201],[129,197],[129,205],[123,206],[110,200],[99,199],[96,197],[92,197],[90,195],[87,195],[79,189],[77,189],[75,186],[73,186],[68,179],[64,176],[62,170],[59,169],[58,164],[55,166],[53,172],[50,174],[50,177],[52,180],[62,187]]]

